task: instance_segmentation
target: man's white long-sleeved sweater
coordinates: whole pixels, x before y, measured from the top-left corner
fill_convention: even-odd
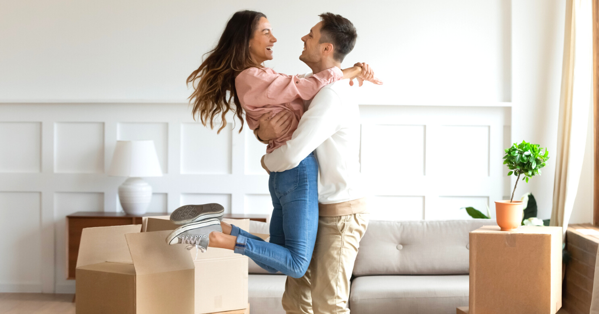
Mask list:
[[[314,151],[321,204],[365,196],[359,163],[360,114],[353,96],[356,89],[358,84],[349,86],[349,80],[323,87],[312,100],[304,102],[307,110],[292,138],[264,157],[271,172],[282,172],[297,167]]]

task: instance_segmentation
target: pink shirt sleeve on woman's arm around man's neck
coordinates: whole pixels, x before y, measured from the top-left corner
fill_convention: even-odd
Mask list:
[[[308,78],[250,68],[238,75],[235,86],[241,87],[238,88],[238,96],[242,104],[262,107],[288,103],[298,98],[311,99],[322,87],[342,78],[343,72],[337,67]]]

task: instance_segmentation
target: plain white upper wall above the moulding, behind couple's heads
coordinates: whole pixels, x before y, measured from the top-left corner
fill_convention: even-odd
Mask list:
[[[358,29],[346,65],[386,82],[361,103],[510,101],[510,1],[3,1],[0,99],[182,101],[184,82],[236,10],[264,12],[279,42],[268,65],[307,72],[301,36],[332,11]]]

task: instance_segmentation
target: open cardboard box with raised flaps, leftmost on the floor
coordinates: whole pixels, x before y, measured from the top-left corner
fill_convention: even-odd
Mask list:
[[[75,270],[76,313],[193,313],[193,261],[168,231],[84,228]]]

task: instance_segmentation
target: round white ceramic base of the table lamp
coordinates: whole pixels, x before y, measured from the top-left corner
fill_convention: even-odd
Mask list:
[[[119,200],[127,214],[146,214],[152,200],[152,185],[141,178],[128,178],[119,186]]]

